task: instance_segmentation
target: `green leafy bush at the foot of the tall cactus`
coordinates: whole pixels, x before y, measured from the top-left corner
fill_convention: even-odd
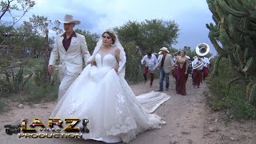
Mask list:
[[[218,77],[210,78],[209,104],[214,110],[224,110],[234,118],[256,119],[256,108],[246,100],[246,82],[237,82],[227,88],[228,82],[235,77],[227,59],[219,63]]]

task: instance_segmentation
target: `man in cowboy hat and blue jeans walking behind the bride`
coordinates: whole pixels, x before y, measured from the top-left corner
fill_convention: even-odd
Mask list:
[[[158,91],[163,90],[163,79],[166,79],[166,90],[169,90],[169,75],[172,66],[174,66],[173,57],[169,54],[169,50],[166,47],[160,49],[162,54],[159,55],[158,69],[160,70],[160,88]]]

